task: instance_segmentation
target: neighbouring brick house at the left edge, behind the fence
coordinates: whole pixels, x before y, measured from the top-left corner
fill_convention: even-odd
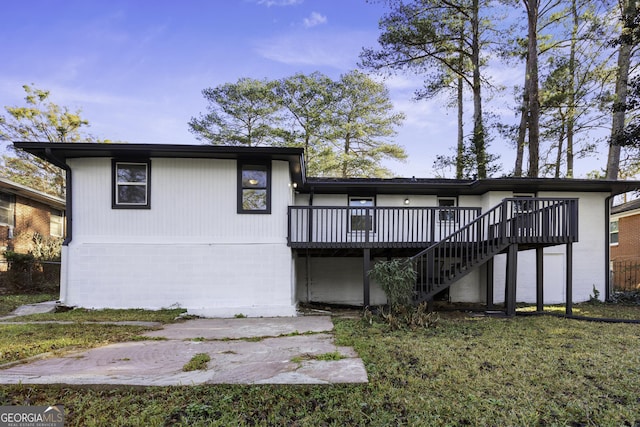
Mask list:
[[[64,237],[64,199],[0,178],[0,253],[29,252],[36,232]]]

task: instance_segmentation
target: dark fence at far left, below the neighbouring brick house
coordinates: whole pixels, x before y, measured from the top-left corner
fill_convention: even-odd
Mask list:
[[[34,261],[19,268],[0,259],[0,289],[4,291],[51,290],[60,287],[59,261]]]

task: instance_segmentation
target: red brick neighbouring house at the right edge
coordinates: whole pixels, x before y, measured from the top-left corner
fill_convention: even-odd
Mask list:
[[[640,284],[640,199],[611,208],[609,244],[615,288],[636,288]]]

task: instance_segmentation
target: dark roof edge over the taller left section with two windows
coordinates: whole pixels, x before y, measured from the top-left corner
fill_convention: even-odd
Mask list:
[[[241,159],[284,160],[289,162],[293,181],[304,185],[305,170],[302,148],[294,147],[235,147],[222,145],[183,144],[105,144],[87,142],[14,142],[22,149],[54,164],[56,159],[64,163],[67,159],[91,157],[148,157],[148,158],[197,158],[197,159]],[[52,159],[52,155],[55,157]],[[56,166],[61,166],[56,164]]]

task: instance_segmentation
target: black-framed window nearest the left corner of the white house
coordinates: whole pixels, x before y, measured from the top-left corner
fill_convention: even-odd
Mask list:
[[[149,209],[151,207],[151,163],[113,162],[113,199],[116,209]]]

